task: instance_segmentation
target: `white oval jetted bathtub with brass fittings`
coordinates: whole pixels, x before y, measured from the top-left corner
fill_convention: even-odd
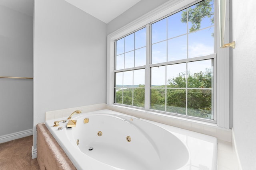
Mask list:
[[[45,124],[78,170],[217,169],[215,137],[108,109],[72,119],[76,127]]]

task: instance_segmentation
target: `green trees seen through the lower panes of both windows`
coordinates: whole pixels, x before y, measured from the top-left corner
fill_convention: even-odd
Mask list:
[[[186,114],[190,116],[212,119],[212,75],[211,70],[191,74],[188,72],[187,82],[186,73],[182,72],[178,76],[167,80],[166,87],[154,86],[150,91],[151,109],[166,111],[170,113]],[[186,84],[188,86],[186,92]],[[191,89],[192,88],[192,89]],[[203,89],[193,89],[203,88]],[[187,94],[187,98],[186,98]],[[124,96],[123,96],[124,95]],[[144,85],[139,84],[132,88],[120,89],[116,92],[116,103],[130,106],[144,107],[145,89]],[[165,98],[166,96],[166,98]],[[123,100],[123,102],[122,102]],[[165,102],[166,100],[166,102]]]

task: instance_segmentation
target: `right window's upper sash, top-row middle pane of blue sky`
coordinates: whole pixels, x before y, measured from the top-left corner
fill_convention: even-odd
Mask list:
[[[187,24],[182,22],[182,14],[186,21],[186,9],[168,17],[168,39],[187,33]]]

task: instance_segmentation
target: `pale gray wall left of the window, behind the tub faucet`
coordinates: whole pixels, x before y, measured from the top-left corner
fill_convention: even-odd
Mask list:
[[[106,103],[106,23],[64,0],[34,1],[34,149],[45,112]]]

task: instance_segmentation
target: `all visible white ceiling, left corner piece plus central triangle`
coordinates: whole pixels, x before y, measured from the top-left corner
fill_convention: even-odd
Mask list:
[[[109,23],[111,20],[140,2],[140,0],[65,0],[84,12]],[[0,0],[6,6],[28,16],[34,14],[34,0]]]

